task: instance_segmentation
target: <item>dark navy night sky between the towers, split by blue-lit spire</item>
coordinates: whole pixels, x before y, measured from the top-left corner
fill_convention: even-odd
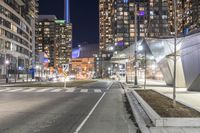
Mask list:
[[[74,47],[82,42],[98,44],[98,3],[98,0],[70,0]],[[39,14],[64,19],[64,0],[40,0],[39,4]]]

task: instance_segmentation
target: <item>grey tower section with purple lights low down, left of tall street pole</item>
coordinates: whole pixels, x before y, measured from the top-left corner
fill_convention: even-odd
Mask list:
[[[112,34],[117,50],[130,45],[129,2],[113,0],[112,2]]]

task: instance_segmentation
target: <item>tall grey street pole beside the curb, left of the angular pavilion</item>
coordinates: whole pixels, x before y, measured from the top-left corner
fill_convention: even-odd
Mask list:
[[[135,2],[135,86],[138,85],[137,80],[137,4]]]

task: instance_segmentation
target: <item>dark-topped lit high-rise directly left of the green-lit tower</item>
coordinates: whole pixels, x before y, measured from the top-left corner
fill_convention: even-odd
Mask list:
[[[55,29],[57,20],[55,15],[39,15],[38,29],[36,38],[36,62],[39,62],[39,58],[44,56],[48,59],[48,66],[54,67],[55,59]],[[40,55],[40,56],[39,56]],[[40,61],[41,62],[41,61]]]

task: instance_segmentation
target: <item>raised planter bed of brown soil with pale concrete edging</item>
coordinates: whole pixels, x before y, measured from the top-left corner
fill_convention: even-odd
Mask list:
[[[153,90],[133,91],[155,126],[200,127],[200,112]]]

